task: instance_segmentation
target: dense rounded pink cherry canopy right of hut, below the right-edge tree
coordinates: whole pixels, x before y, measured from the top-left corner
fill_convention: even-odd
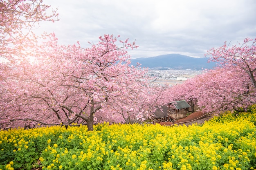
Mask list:
[[[215,68],[186,80],[183,84],[173,86],[169,93],[173,100],[184,99],[207,113],[246,110],[255,103],[256,96],[249,75],[226,68]]]

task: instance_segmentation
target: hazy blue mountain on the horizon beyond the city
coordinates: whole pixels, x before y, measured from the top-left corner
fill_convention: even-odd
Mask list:
[[[215,66],[215,63],[207,63],[208,59],[209,57],[195,58],[180,54],[167,54],[159,55],[156,57],[132,59],[131,64],[136,66],[137,62],[139,62],[141,64],[141,67],[158,69],[212,69]]]

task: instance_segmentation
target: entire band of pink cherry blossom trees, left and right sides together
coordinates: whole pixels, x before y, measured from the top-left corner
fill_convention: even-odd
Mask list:
[[[135,42],[104,35],[84,49],[58,44],[53,33],[35,35],[38,22],[58,20],[48,8],[42,0],[0,1],[0,128],[75,123],[93,130],[102,121],[145,121],[177,100],[210,113],[256,103],[256,39],[209,50],[218,67],[184,84],[151,86],[146,69],[130,66],[126,50]]]

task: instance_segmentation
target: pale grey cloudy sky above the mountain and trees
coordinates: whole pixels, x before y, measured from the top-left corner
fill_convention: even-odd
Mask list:
[[[43,0],[58,8],[54,32],[61,44],[83,47],[104,34],[139,45],[132,58],[179,53],[204,57],[207,50],[256,38],[256,0]]]

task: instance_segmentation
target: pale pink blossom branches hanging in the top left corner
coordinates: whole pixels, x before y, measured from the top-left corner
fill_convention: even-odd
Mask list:
[[[57,10],[47,15],[49,5],[42,0],[0,1],[0,57],[10,60],[39,37],[33,33],[41,21],[57,21]]]

